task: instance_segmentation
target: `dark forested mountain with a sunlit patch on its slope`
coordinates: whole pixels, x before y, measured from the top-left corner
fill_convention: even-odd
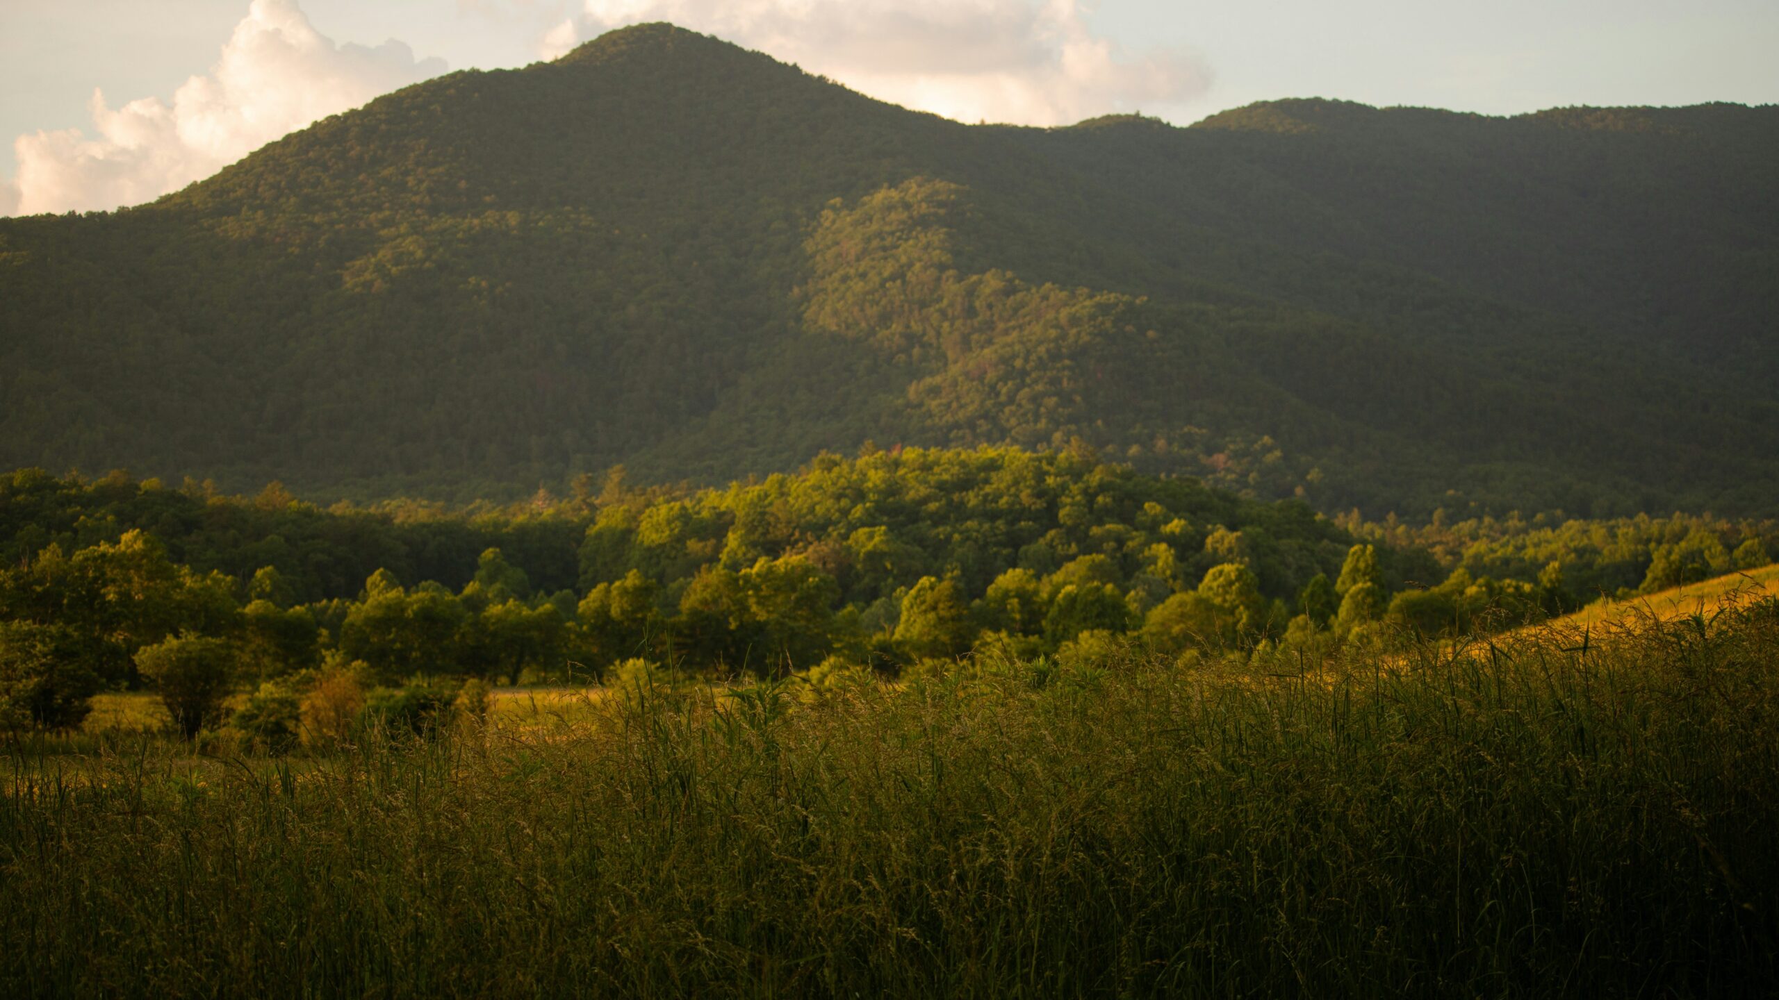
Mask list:
[[[1372,514],[1770,514],[1774,162],[1740,105],[966,126],[644,25],[0,221],[0,466],[512,496],[1085,445]]]

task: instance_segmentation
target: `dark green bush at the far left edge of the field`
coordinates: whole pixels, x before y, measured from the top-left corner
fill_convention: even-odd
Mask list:
[[[66,628],[0,623],[0,730],[78,728],[100,683]]]

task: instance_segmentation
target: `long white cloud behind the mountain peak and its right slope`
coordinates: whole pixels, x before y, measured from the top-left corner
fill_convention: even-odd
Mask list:
[[[1067,125],[1210,85],[1185,50],[1119,52],[1076,0],[585,0],[584,20],[672,21],[959,121]]]

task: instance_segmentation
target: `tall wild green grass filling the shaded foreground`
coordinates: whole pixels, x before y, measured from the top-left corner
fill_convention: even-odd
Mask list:
[[[30,995],[1770,995],[1779,605],[11,751]]]

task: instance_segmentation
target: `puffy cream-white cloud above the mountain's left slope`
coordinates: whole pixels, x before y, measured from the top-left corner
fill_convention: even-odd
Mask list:
[[[142,98],[112,109],[94,91],[96,137],[78,128],[20,135],[16,198],[0,180],[0,214],[151,201],[317,119],[443,71],[443,60],[416,60],[400,41],[338,44],[315,32],[295,0],[253,0],[210,75],[187,80],[171,105]]]

